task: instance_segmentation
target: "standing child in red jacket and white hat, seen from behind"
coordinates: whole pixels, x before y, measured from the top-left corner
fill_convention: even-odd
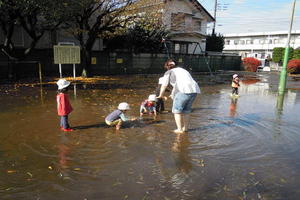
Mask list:
[[[70,104],[69,97],[66,94],[71,82],[65,79],[59,79],[56,84],[58,86],[56,101],[57,113],[60,116],[60,128],[62,131],[73,131],[68,122],[68,115],[72,112],[73,108]]]

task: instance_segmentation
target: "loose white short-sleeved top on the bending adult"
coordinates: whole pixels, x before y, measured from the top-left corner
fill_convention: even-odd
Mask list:
[[[191,74],[181,67],[176,67],[166,71],[162,86],[168,86],[169,83],[173,87],[171,94],[172,97],[174,97],[177,92],[185,94],[201,93],[199,85],[193,79]]]

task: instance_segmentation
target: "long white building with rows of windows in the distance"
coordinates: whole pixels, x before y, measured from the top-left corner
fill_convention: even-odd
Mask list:
[[[273,48],[286,47],[287,31],[224,34],[224,53],[236,53],[243,57],[272,58]],[[292,31],[290,47],[300,47],[300,30]]]

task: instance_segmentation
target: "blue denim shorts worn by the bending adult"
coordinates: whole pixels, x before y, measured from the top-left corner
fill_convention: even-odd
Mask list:
[[[173,100],[173,107],[172,107],[172,113],[174,114],[188,114],[192,112],[192,104],[194,100],[196,99],[197,93],[181,93],[178,92],[175,95],[175,98]]]

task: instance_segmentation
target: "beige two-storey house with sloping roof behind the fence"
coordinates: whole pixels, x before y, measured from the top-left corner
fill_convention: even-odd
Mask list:
[[[171,30],[174,53],[205,51],[207,24],[214,18],[197,0],[164,1],[163,23]]]

